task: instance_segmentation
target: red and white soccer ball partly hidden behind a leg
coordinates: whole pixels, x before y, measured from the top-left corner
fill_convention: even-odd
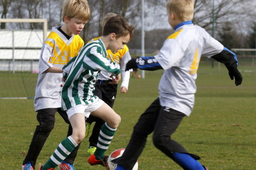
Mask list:
[[[112,160],[119,158],[122,156],[123,152],[125,149],[118,149],[112,152],[108,158],[108,170],[114,170],[117,166],[116,163],[112,162]],[[138,169],[138,161],[135,163],[134,167],[132,170],[137,170]]]

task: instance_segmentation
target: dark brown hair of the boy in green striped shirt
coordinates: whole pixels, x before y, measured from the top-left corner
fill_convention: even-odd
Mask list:
[[[107,36],[111,33],[116,34],[116,38],[124,37],[130,34],[130,40],[134,35],[134,26],[129,25],[126,20],[119,14],[116,16],[110,17],[106,20],[106,23],[103,27],[103,36]]]

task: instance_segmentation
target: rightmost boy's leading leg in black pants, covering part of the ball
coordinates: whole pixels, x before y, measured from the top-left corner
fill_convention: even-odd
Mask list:
[[[157,99],[145,110],[134,126],[132,137],[124,153],[120,158],[113,160],[114,163],[122,165],[127,170],[133,168],[145,147],[147,136],[154,130],[160,108]]]

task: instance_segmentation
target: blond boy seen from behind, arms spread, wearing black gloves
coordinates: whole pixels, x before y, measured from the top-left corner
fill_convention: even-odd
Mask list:
[[[235,54],[212,38],[203,28],[193,25],[194,1],[169,0],[166,5],[169,25],[175,30],[154,57],[140,57],[127,63],[126,69],[164,69],[159,83],[159,97],[140,116],[123,155],[113,160],[116,170],[131,170],[141,155],[146,139],[153,134],[157,149],[186,170],[205,170],[199,156],[189,153],[170,138],[182,118],[189,116],[195,103],[197,70],[201,55],[222,62],[231,80],[240,85]]]

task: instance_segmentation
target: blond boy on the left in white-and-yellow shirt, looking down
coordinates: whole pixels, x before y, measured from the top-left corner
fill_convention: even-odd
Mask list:
[[[87,0],[63,1],[61,27],[54,27],[42,45],[39,58],[39,75],[35,89],[34,107],[39,125],[36,127],[28,153],[22,163],[23,170],[33,170],[37,157],[54,128],[55,113],[66,123],[68,115],[61,110],[62,67],[78,55],[84,42],[78,35],[91,17]],[[68,136],[72,134],[69,127]],[[76,155],[76,151],[74,154]],[[73,164],[74,159],[69,159]]]

